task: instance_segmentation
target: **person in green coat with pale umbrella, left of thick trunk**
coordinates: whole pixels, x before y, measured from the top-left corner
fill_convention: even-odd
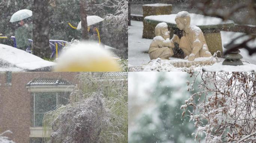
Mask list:
[[[28,38],[32,38],[32,25],[25,23],[24,19],[31,16],[31,10],[23,9],[15,12],[10,19],[10,22],[18,22],[18,28],[15,29],[16,47],[24,51],[30,48]]]

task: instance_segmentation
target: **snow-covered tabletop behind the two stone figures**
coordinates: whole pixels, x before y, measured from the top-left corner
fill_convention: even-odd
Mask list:
[[[186,14],[185,12],[180,13],[179,15]],[[210,17],[199,15],[195,13],[189,13],[191,18],[191,25],[196,25],[201,29],[205,28],[222,28],[227,26],[235,26],[233,20],[226,20],[225,22],[220,18]],[[172,15],[151,15],[146,16],[144,19],[147,22],[166,22],[171,27],[177,27],[175,18],[177,14]]]

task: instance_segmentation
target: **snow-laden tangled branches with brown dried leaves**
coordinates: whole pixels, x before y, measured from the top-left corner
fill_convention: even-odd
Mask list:
[[[195,140],[207,143],[256,142],[256,76],[253,72],[191,73],[201,78],[199,92],[185,101],[182,116],[195,124]],[[194,83],[187,81],[188,91]],[[189,110],[188,107],[193,107]]]

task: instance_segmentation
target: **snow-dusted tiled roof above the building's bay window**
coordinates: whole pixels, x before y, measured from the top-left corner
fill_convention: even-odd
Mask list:
[[[63,79],[33,79],[27,83],[27,86],[31,85],[72,85]]]

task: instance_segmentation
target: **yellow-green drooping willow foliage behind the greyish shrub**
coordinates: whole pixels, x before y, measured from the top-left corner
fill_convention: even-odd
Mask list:
[[[106,107],[110,109],[112,125],[101,131],[100,143],[128,142],[128,80],[127,74],[119,79],[118,73],[84,72],[77,77],[82,83],[80,89],[84,97],[101,91],[106,98]]]

